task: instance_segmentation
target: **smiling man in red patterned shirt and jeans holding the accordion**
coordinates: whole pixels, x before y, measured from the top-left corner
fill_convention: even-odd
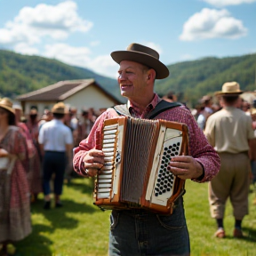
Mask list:
[[[120,66],[117,79],[121,94],[128,99],[127,110],[132,117],[145,118],[161,101],[154,84],[156,79],[169,76],[168,68],[159,60],[158,52],[141,44],[130,44],[126,51],[112,52],[111,57]],[[116,116],[115,109],[108,108],[97,118],[88,137],[74,149],[73,165],[80,175],[93,177],[103,166],[104,154],[95,149],[95,133],[101,131],[104,120]],[[188,125],[191,156],[173,157],[171,172],[184,180],[211,180],[219,171],[220,159],[188,108],[171,108],[156,118]],[[189,255],[182,196],[170,216],[146,210],[114,210],[110,220],[109,255]]]

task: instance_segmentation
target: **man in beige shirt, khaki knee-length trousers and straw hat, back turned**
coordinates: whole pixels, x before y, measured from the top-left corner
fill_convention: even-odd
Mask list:
[[[220,156],[220,172],[209,183],[209,203],[212,218],[217,222],[216,237],[226,236],[223,219],[229,197],[235,217],[233,236],[243,236],[242,220],[248,214],[249,143],[254,139],[252,118],[237,108],[237,100],[243,91],[236,82],[222,85],[220,96],[222,109],[207,120],[204,134]],[[249,141],[249,143],[248,143]]]

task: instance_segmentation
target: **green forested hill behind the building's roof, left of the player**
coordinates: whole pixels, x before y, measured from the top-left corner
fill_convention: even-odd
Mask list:
[[[59,60],[0,50],[0,96],[2,97],[15,98],[17,95],[59,81],[87,78],[94,78],[118,99],[123,98],[120,96],[116,79],[97,75],[86,68],[68,66]]]

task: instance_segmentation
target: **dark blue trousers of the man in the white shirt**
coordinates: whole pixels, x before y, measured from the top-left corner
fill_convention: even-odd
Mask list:
[[[66,153],[45,151],[43,160],[43,188],[44,195],[51,193],[50,180],[52,173],[55,173],[54,178],[54,194],[61,195],[66,168]]]

